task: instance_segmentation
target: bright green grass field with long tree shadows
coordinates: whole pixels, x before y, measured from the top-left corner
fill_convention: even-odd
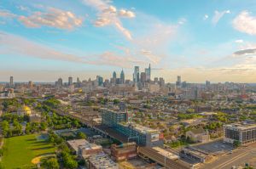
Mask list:
[[[32,165],[32,159],[55,152],[53,144],[38,139],[38,134],[4,139],[3,166],[14,169]]]

